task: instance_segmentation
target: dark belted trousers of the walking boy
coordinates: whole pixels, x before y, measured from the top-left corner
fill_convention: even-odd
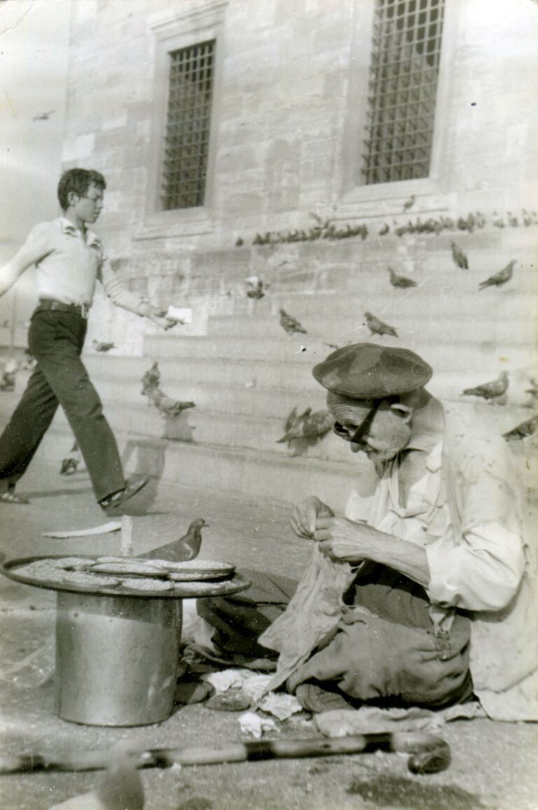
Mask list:
[[[87,322],[77,313],[32,315],[28,347],[37,364],[0,437],[0,487],[14,486],[28,468],[62,405],[88,468],[97,501],[125,486],[116,440],[80,353]]]

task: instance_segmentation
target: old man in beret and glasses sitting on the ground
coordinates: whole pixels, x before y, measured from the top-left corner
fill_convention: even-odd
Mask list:
[[[377,488],[344,515],[298,504],[292,530],[315,541],[301,582],[248,572],[244,594],[201,600],[206,652],[278,656],[273,688],[313,711],[478,697],[492,717],[538,718],[532,549],[506,442],[429,394],[432,369],[408,349],[357,343],[313,373]]]

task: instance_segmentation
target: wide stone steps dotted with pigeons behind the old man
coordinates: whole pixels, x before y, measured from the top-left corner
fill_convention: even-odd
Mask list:
[[[450,241],[470,254],[469,271],[455,268]],[[143,356],[100,356],[85,362],[105,403],[118,439],[130,448],[137,471],[164,475],[199,486],[248,493],[254,497],[295,501],[316,492],[337,507],[344,505],[351,482],[364,492],[373,486],[369,463],[349,452],[331,433],[303,455],[277,443],[292,407],[325,407],[324,391],[311,369],[331,347],[371,340],[413,349],[434,369],[429,390],[442,400],[480,412],[498,433],[527,420],[531,398],[525,393],[536,371],[532,347],[538,343],[536,294],[532,266],[536,234],[495,232],[442,234],[416,238],[411,245],[396,237],[337,244],[288,245],[285,271],[276,272],[275,249],[260,249],[255,271],[265,262],[267,295],[257,304],[245,295],[244,275],[229,270],[218,283],[204,279],[207,328],[203,335],[173,331],[146,335]],[[299,250],[300,248],[300,250]],[[237,249],[238,257],[250,249]],[[478,282],[519,258],[514,278],[502,288],[478,292]],[[523,258],[527,257],[526,261]],[[245,273],[246,257],[239,265]],[[250,262],[252,266],[252,261]],[[387,266],[419,285],[392,288]],[[230,290],[231,294],[223,294]],[[201,293],[202,291],[199,291]],[[190,295],[197,291],[191,288]],[[288,336],[279,324],[279,309],[297,317],[305,335]],[[395,326],[398,338],[370,336],[365,310]],[[194,400],[196,407],[176,418],[161,416],[141,395],[140,378],[159,361],[166,394]],[[463,388],[510,373],[506,406],[463,397]],[[70,439],[61,413],[54,425],[51,451],[65,454]],[[139,452],[133,454],[137,447]],[[512,443],[521,458],[527,492],[536,485],[535,440]],[[153,450],[152,450],[153,448]],[[129,467],[128,467],[129,468]]]

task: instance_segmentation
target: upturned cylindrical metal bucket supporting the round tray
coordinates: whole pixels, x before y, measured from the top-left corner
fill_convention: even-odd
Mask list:
[[[90,726],[169,718],[181,599],[58,592],[55,711]]]

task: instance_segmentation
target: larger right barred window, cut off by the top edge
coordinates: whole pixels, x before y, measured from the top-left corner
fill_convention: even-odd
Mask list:
[[[362,173],[429,176],[444,0],[376,0]]]

